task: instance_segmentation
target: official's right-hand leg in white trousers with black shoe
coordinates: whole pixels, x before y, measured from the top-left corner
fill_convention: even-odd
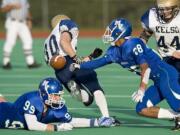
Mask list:
[[[40,64],[37,64],[33,57],[33,51],[32,51],[33,41],[32,41],[30,30],[25,23],[21,23],[19,25],[21,25],[21,29],[19,30],[19,37],[22,40],[22,45],[23,45],[23,50],[24,50],[27,66],[29,68],[39,67]]]

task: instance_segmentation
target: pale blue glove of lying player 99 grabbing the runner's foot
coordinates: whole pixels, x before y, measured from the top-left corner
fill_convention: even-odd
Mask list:
[[[112,118],[112,117],[101,117],[98,119],[98,125],[100,127],[111,127],[114,125],[114,118]]]

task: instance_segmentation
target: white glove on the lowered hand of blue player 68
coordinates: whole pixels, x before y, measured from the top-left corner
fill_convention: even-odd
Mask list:
[[[134,102],[142,102],[144,91],[139,89],[138,91],[135,91],[131,97]]]

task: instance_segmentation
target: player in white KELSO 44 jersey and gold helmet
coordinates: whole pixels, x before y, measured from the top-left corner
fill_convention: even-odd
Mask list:
[[[180,5],[179,0],[157,0],[141,18],[145,42],[155,35],[157,49],[168,64],[180,72]],[[179,80],[180,81],[180,80]]]

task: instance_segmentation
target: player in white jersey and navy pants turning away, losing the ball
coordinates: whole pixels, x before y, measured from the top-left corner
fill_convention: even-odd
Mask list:
[[[95,50],[90,56],[82,59],[77,56],[77,40],[79,29],[77,24],[66,15],[57,15],[51,21],[53,28],[44,43],[45,61],[49,65],[54,55],[64,56],[66,65],[62,69],[54,69],[55,75],[73,97],[89,106],[93,98],[103,117],[109,117],[107,101],[104,96],[96,72],[80,69],[75,72],[69,70],[72,63],[81,63],[90,58],[98,57],[99,51]]]

